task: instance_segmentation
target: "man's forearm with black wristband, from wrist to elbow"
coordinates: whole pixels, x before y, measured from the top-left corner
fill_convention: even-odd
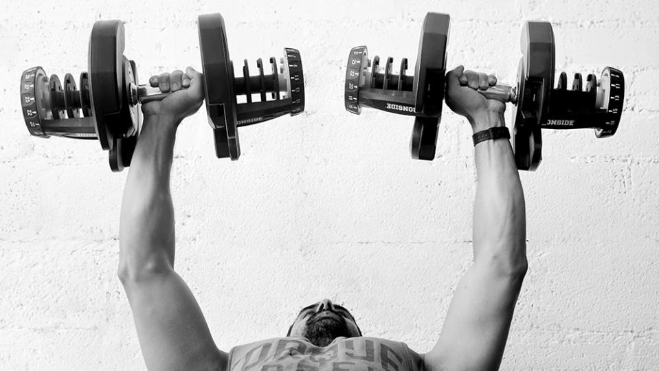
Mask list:
[[[503,126],[503,117],[491,117],[484,127]],[[526,214],[524,193],[508,139],[476,145],[478,186],[473,214],[474,260],[493,259],[511,273],[526,271]]]

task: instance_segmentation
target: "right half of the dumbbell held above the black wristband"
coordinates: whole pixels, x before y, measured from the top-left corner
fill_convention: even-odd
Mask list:
[[[623,72],[603,69],[599,81],[574,74],[572,89],[561,72],[554,88],[555,41],[549,22],[528,21],[522,29],[522,58],[514,87],[500,85],[480,91],[485,97],[511,102],[512,144],[520,170],[535,170],[542,159],[541,129],[593,128],[598,138],[614,135],[620,124],[625,98]],[[584,89],[585,88],[585,89]]]

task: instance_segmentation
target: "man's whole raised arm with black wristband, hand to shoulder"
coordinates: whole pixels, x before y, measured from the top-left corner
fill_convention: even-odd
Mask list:
[[[447,74],[447,104],[473,133],[504,126],[504,104],[476,89],[493,76],[462,67]],[[476,145],[478,185],[473,212],[473,264],[460,280],[436,346],[425,356],[434,370],[497,370],[526,273],[524,194],[508,139]]]

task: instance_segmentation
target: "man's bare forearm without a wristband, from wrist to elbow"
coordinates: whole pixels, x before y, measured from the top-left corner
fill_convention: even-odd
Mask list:
[[[131,161],[120,224],[120,274],[173,267],[174,210],[169,178],[177,122],[148,116]]]

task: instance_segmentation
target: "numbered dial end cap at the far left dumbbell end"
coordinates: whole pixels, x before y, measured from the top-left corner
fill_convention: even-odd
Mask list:
[[[43,120],[52,118],[49,108],[46,108],[50,104],[44,102],[49,94],[47,81],[48,78],[41,67],[26,69],[21,74],[21,109],[27,131],[35,137],[49,137],[41,126]]]

